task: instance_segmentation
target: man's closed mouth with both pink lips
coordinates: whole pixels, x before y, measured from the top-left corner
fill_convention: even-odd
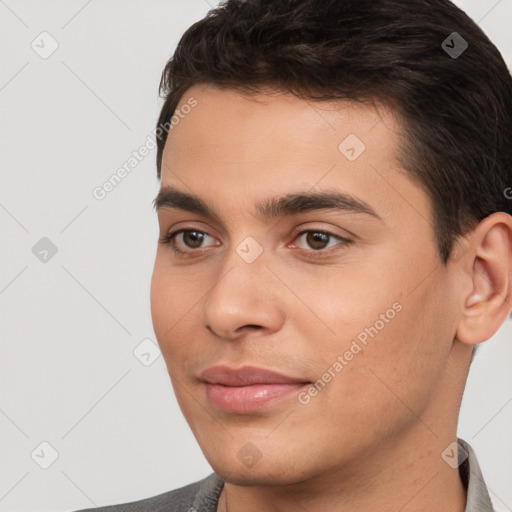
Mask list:
[[[303,378],[251,366],[214,366],[204,371],[199,379],[203,382],[206,396],[213,406],[239,413],[269,407],[290,398],[311,384]]]

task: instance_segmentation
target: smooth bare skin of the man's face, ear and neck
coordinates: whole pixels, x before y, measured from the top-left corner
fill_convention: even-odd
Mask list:
[[[510,313],[512,217],[484,219],[445,266],[385,107],[205,85],[180,105],[191,96],[197,106],[165,146],[162,187],[200,197],[218,218],[159,209],[161,237],[209,236],[199,248],[175,238],[185,256],[158,244],[151,308],[181,410],[226,482],[218,511],[462,512],[458,470],[441,454],[456,440],[472,348]],[[338,149],[351,133],[366,145],[352,162]],[[270,197],[326,190],[362,199],[381,220],[256,213]],[[332,237],[315,251],[298,226],[353,243]],[[248,236],[263,249],[250,264],[236,252]],[[394,303],[400,312],[309,403],[293,395],[230,413],[208,401],[198,375],[218,364],[317,381]],[[252,467],[237,456],[248,442],[261,456]]]

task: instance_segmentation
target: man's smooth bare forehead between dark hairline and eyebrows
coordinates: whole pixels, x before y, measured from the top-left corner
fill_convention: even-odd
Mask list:
[[[398,164],[402,127],[384,105],[201,85],[176,112],[191,98],[197,105],[184,109],[167,139],[162,186],[239,211],[271,196],[337,189],[383,218],[419,216],[428,227],[428,198]]]

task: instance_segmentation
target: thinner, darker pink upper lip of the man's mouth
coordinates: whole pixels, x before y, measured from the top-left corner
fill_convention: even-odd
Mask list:
[[[223,386],[250,386],[253,384],[305,384],[305,379],[290,377],[282,373],[243,366],[242,368],[230,368],[229,366],[212,366],[201,373],[199,379],[209,384],[221,384]]]

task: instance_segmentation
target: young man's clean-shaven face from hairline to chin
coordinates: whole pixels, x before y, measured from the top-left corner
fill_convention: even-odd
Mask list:
[[[213,469],[326,481],[432,440],[453,400],[456,315],[430,202],[397,163],[398,121],[212,86],[177,110],[191,97],[163,155],[151,308]]]

